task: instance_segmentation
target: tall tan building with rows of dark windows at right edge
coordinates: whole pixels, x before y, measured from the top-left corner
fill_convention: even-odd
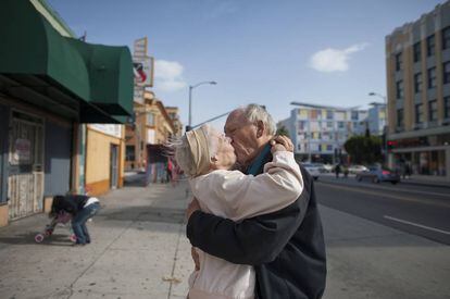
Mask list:
[[[450,1],[386,37],[389,164],[450,180]]]

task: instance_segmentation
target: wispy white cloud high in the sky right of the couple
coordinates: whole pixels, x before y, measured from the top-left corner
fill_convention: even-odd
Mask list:
[[[318,72],[346,72],[349,70],[349,60],[352,53],[362,51],[368,43],[357,43],[347,49],[327,48],[314,53],[310,59],[310,66]]]

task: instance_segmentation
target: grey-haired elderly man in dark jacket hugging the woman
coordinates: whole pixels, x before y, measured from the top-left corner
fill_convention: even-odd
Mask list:
[[[233,140],[242,171],[262,173],[272,160],[275,125],[271,115],[257,104],[237,109],[228,115],[225,134]],[[232,263],[253,265],[255,298],[321,298],[324,292],[322,223],[313,179],[304,169],[301,173],[301,196],[274,213],[236,223],[201,212],[196,200],[188,207],[187,236],[192,246]]]

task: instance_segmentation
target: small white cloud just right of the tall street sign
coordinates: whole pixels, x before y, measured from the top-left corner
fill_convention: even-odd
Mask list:
[[[154,62],[154,87],[162,91],[176,91],[187,86],[183,78],[184,67],[176,61]]]

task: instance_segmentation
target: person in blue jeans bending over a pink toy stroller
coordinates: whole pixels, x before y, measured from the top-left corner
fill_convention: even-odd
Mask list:
[[[55,196],[51,204],[50,217],[54,217],[61,211],[72,215],[72,229],[76,236],[75,245],[90,244],[90,235],[86,222],[93,217],[100,209],[100,202],[96,197],[83,195]]]

